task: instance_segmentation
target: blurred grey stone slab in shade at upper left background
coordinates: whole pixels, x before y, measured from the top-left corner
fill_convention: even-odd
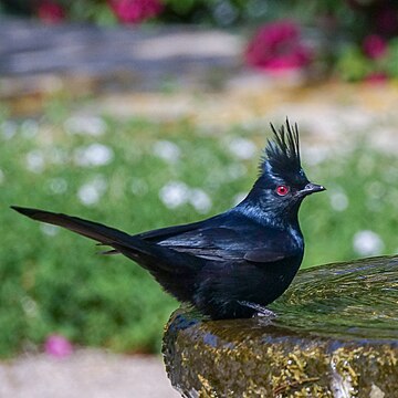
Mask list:
[[[151,91],[169,81],[211,85],[214,74],[223,78],[241,67],[241,39],[221,30],[49,25],[1,18],[0,25],[0,83],[11,86],[20,77],[31,86],[31,78],[50,74],[62,77],[66,85],[76,76],[85,77],[102,92]]]

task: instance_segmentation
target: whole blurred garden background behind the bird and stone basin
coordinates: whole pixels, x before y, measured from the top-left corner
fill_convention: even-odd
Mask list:
[[[130,261],[10,205],[130,233],[207,218],[243,198],[270,122],[287,116],[328,189],[302,207],[302,268],[395,254],[397,78],[392,0],[1,0],[1,396],[54,358],[158,369],[154,397],[174,396],[147,355],[178,305]],[[153,394],[130,388],[112,396]],[[78,396],[62,391],[48,396]]]

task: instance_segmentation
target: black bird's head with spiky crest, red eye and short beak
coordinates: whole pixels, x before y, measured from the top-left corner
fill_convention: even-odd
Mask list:
[[[266,144],[260,176],[247,199],[266,212],[296,217],[302,200],[325,188],[311,182],[301,166],[297,125],[286,119],[280,129],[272,124],[271,128],[274,136]]]

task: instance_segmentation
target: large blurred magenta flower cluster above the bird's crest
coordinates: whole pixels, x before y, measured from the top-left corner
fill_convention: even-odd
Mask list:
[[[287,20],[260,28],[245,51],[249,65],[275,72],[302,69],[311,59],[311,50],[301,42],[298,25]]]

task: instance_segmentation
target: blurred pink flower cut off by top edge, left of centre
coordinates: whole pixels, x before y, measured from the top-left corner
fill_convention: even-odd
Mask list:
[[[138,23],[159,14],[164,8],[159,0],[108,0],[121,22]]]

